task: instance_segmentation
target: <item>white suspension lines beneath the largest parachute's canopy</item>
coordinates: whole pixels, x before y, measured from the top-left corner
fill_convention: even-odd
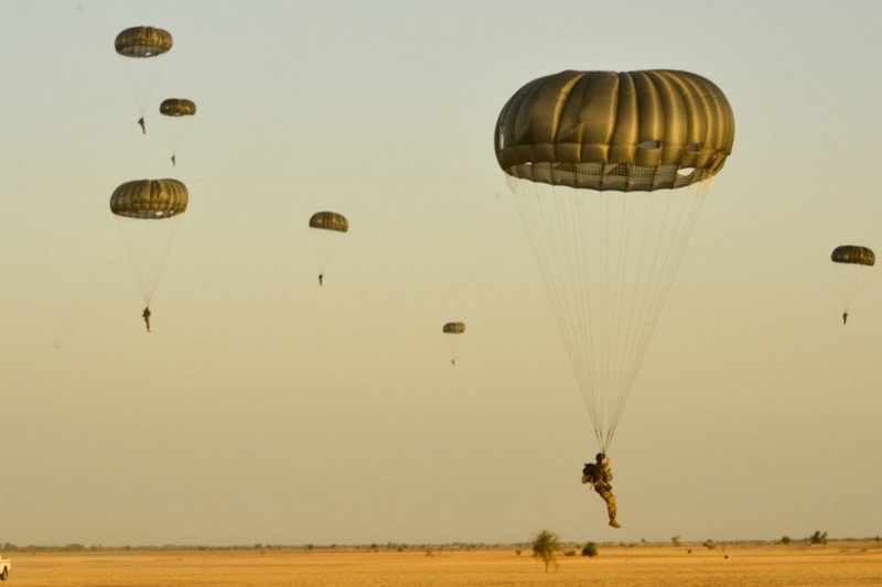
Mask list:
[[[690,188],[587,192],[507,176],[602,450],[643,362],[709,181]],[[541,171],[534,170],[534,173]]]

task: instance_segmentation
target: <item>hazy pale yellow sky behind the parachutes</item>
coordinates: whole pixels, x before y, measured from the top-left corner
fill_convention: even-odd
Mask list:
[[[114,51],[174,36],[147,115]],[[0,543],[882,533],[882,4],[0,2]],[[563,69],[711,79],[736,132],[611,448],[493,150]],[[198,111],[169,162],[161,99]],[[184,182],[151,301],[108,209]],[[309,217],[349,232],[316,283]],[[456,367],[441,334],[467,325]]]

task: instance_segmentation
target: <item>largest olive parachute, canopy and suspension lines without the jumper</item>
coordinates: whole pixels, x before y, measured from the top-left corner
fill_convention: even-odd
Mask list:
[[[723,93],[678,70],[561,72],[499,113],[496,159],[604,453],[733,140]]]

